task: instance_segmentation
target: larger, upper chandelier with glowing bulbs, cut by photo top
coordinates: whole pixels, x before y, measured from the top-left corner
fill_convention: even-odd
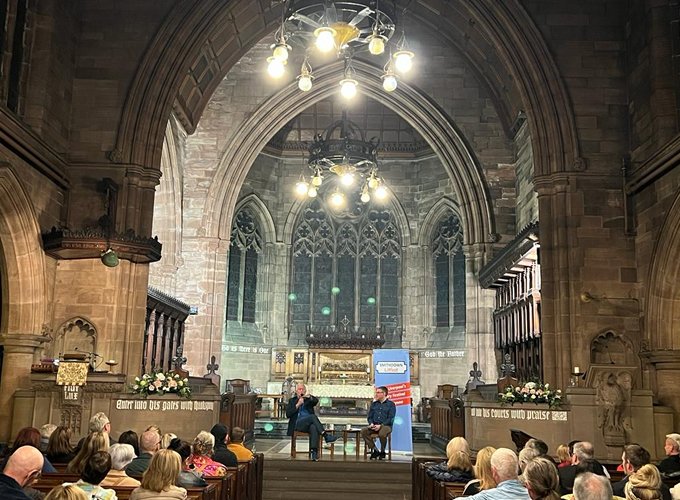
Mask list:
[[[274,35],[272,55],[267,59],[268,73],[274,78],[282,77],[292,46],[299,47],[304,51],[304,59],[297,76],[298,87],[307,92],[314,80],[311,61],[334,52],[336,57],[345,60],[340,92],[351,98],[357,93],[358,85],[352,59],[357,53],[367,51],[383,58],[388,54],[380,78],[387,92],[396,90],[397,75],[411,70],[414,53],[408,48],[403,29],[399,40],[393,40],[396,15],[387,4],[379,0],[284,0],[281,26]]]

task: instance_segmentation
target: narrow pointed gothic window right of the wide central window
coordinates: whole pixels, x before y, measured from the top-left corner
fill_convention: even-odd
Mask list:
[[[449,212],[432,238],[435,269],[435,324],[465,327],[465,254],[460,219]]]

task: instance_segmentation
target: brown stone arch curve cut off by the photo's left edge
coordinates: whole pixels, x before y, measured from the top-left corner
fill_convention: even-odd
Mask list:
[[[9,165],[0,164],[2,334],[39,335],[46,320],[45,257],[30,198]]]

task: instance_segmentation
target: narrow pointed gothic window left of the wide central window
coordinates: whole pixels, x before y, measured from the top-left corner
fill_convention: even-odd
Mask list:
[[[227,320],[255,322],[257,268],[262,253],[262,236],[257,219],[247,208],[234,217],[229,247]]]

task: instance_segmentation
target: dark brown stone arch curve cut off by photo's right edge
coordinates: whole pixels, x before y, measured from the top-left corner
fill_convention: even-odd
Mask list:
[[[680,194],[659,230],[647,296],[647,335],[652,350],[680,350]]]

